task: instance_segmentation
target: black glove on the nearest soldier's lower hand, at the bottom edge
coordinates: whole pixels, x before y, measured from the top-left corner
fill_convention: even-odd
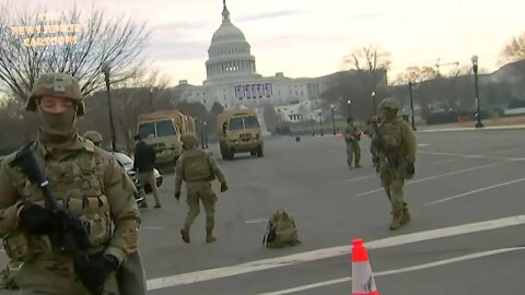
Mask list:
[[[102,294],[107,276],[119,267],[120,262],[115,256],[101,252],[90,256],[85,266],[75,266],[75,272],[92,294]]]

